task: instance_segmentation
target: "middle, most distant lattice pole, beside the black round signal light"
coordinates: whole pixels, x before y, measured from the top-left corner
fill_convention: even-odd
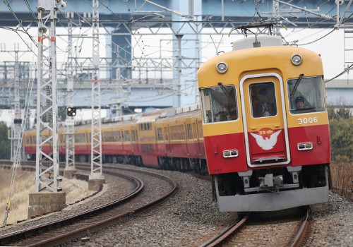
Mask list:
[[[68,18],[73,18],[71,13],[67,13]],[[66,91],[66,107],[71,107],[73,109],[73,51],[72,51],[72,23],[68,22],[68,62],[66,63],[66,73],[68,75],[67,80],[67,91]],[[73,174],[76,172],[75,167],[75,118],[76,113],[70,114],[68,116],[66,114],[66,166],[64,169],[64,177],[71,179],[73,178]]]

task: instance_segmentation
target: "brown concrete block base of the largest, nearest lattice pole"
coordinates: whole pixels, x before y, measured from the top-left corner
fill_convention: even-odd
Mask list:
[[[28,205],[28,219],[46,215],[49,212],[58,212],[66,207],[65,192],[38,192],[30,193]]]

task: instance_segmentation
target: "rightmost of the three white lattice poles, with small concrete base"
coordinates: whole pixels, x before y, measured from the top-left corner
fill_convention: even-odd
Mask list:
[[[102,129],[100,116],[100,1],[92,0],[92,128],[91,128],[91,173],[88,180],[88,189],[98,191],[105,182],[102,174]]]

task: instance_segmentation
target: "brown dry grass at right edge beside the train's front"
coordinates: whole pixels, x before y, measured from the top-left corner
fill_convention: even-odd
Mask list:
[[[353,163],[333,163],[330,165],[333,191],[352,200]]]

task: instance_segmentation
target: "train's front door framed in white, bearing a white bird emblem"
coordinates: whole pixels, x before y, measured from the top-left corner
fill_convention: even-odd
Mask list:
[[[276,73],[241,79],[241,111],[249,167],[290,162],[282,78]]]

